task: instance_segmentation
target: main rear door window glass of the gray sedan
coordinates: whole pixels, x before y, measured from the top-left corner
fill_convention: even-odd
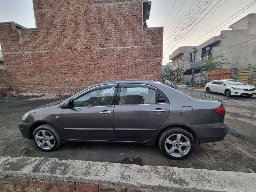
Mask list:
[[[156,103],[156,90],[147,87],[121,87],[119,105]]]

